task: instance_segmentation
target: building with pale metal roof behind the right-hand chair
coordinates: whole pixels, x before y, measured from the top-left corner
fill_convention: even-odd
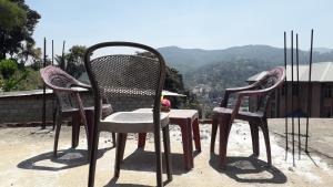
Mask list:
[[[291,65],[286,67],[287,81],[287,113],[286,115],[306,115],[307,111],[307,89],[309,89],[309,65],[300,65],[300,92],[296,89],[297,72],[294,65],[294,86],[291,83],[292,70]],[[249,77],[248,82],[252,83],[264,75],[264,72]],[[333,62],[319,62],[312,65],[311,75],[312,85],[312,107],[311,117],[332,117],[333,116]],[[276,90],[271,97],[268,108],[269,117],[284,117],[285,116],[285,91],[283,85]],[[294,107],[292,108],[292,87]],[[300,101],[299,101],[300,100]],[[255,101],[250,101],[250,110],[254,107]],[[300,106],[300,107],[299,107]]]

